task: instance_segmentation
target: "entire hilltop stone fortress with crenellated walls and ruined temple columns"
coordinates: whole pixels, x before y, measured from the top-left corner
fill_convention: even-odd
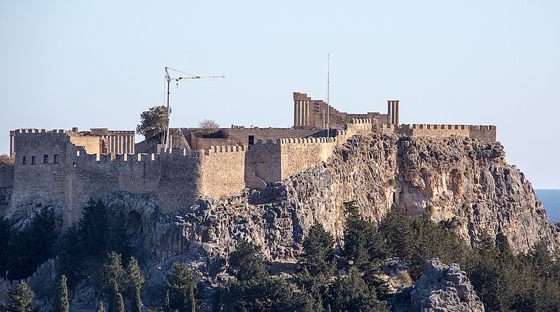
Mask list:
[[[171,129],[170,148],[151,141],[135,144],[132,131],[18,129],[10,132],[15,165],[0,171],[0,183],[13,189],[8,211],[55,199],[64,202],[68,226],[90,197],[152,194],[160,211],[176,211],[200,198],[239,195],[283,180],[324,162],[351,136],[372,133],[496,141],[495,126],[400,125],[399,101],[388,101],[387,114],[348,114],[294,93],[293,128],[232,125],[212,134]]]

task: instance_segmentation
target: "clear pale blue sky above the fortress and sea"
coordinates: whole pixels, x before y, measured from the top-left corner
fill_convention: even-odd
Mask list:
[[[0,154],[9,131],[134,130],[207,118],[291,127],[293,92],[404,124],[496,125],[506,161],[560,189],[560,1],[0,1]],[[172,76],[185,76],[172,72]],[[143,138],[137,136],[137,142]]]

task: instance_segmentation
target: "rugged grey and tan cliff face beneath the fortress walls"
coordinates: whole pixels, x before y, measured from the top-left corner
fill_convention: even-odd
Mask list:
[[[531,183],[505,162],[500,143],[468,138],[353,136],[326,161],[237,197],[200,199],[175,213],[160,213],[154,194],[115,193],[104,199],[127,218],[128,233],[146,272],[146,294],[155,293],[162,271],[189,262],[215,284],[225,258],[245,238],[263,246],[272,262],[291,262],[314,220],[342,235],[344,201],[356,200],[365,217],[378,222],[393,201],[416,218],[457,218],[475,244],[502,231],[517,251],[545,239],[560,246]]]

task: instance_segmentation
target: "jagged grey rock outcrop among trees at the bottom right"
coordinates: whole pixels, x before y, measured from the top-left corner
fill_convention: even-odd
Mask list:
[[[458,264],[445,265],[435,258],[410,293],[415,312],[484,312],[464,271]]]

